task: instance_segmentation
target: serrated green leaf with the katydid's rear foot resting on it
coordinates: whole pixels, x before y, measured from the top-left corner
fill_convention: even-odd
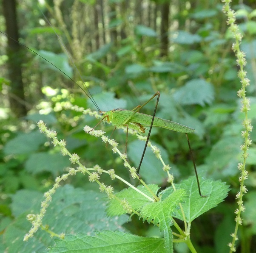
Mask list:
[[[187,180],[182,181],[182,183],[175,185],[176,189],[187,189],[190,192],[188,199],[185,200],[185,203],[182,203],[187,222],[192,222],[201,214],[224,201],[230,190],[229,186],[220,180],[212,181],[210,179],[202,180],[202,178],[199,178],[199,181],[202,195],[207,195],[207,197],[201,197],[199,195],[196,177],[190,177]],[[165,189],[162,192],[162,199],[165,198],[166,194],[169,195],[170,192],[173,192],[172,188]],[[173,216],[183,220],[180,210],[177,210],[176,214]]]

